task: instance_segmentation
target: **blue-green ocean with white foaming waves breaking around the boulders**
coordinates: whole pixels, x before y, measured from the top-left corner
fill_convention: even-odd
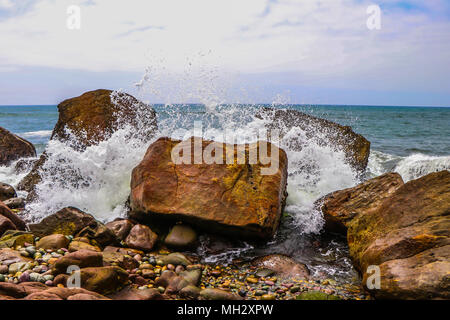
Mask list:
[[[202,120],[204,137],[220,140],[224,129],[232,129],[237,137],[258,122],[252,113],[259,106],[222,105],[155,105],[159,136],[177,136],[177,129],[189,129]],[[349,125],[371,142],[371,155],[365,178],[395,171],[405,181],[425,174],[450,169],[450,108],[389,106],[306,106],[276,107],[297,109],[316,117]],[[75,206],[101,221],[125,215],[124,203],[129,195],[131,170],[142,159],[148,145],[129,140],[127,128],[111,139],[86,151],[77,152],[60,142],[50,142],[58,119],[56,106],[0,106],[0,126],[32,142],[40,154],[50,155],[47,166],[57,168],[64,163],[67,172],[83,177],[68,183],[64,170],[53,170],[38,187],[40,200],[28,205],[27,218],[42,219],[65,206]],[[293,131],[294,137],[302,132]],[[282,145],[283,146],[283,145]],[[286,149],[289,145],[286,144]],[[208,238],[198,248],[204,262],[230,262],[268,253],[285,253],[306,263],[313,273],[325,273],[339,280],[351,281],[355,276],[348,258],[345,239],[323,234],[323,219],[313,203],[321,196],[352,187],[361,182],[345,162],[342,152],[332,146],[308,141],[302,151],[287,150],[289,179],[287,207],[276,238],[258,246],[234,243],[224,252],[208,251]],[[63,160],[63,161],[61,161]],[[314,164],[312,172],[302,172],[305,164]],[[0,181],[16,185],[25,173],[16,174],[13,165],[0,167]],[[25,194],[20,193],[21,196]]]

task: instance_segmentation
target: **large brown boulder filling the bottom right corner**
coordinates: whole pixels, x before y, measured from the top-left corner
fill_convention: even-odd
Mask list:
[[[347,223],[363,283],[376,298],[450,299],[450,172],[410,181]],[[380,268],[380,289],[368,285]]]

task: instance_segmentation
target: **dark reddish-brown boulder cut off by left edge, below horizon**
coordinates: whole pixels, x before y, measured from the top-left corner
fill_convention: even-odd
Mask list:
[[[0,127],[0,166],[7,166],[17,159],[30,157],[36,157],[34,146]]]

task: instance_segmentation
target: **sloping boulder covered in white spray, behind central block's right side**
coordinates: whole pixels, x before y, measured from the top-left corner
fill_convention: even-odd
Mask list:
[[[266,120],[268,129],[278,129],[283,136],[290,129],[299,128],[305,132],[306,139],[343,150],[348,162],[355,169],[364,171],[367,167],[370,142],[349,126],[342,126],[292,109],[261,108],[256,117]],[[291,145],[301,149],[303,143],[305,141],[293,141]]]

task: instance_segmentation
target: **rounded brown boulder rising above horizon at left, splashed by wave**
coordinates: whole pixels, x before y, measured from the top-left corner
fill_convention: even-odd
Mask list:
[[[129,125],[144,140],[157,130],[156,113],[148,105],[126,93],[95,90],[58,105],[59,118],[51,140],[57,139],[77,150],[105,141],[119,128]],[[69,134],[70,132],[70,134]],[[33,191],[40,182],[39,170],[46,162],[44,153],[31,172],[19,183],[19,190]]]

